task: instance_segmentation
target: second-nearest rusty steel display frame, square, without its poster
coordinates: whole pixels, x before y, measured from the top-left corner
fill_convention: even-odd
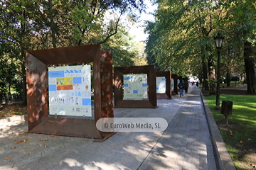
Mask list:
[[[147,74],[148,99],[123,100],[123,74]],[[154,66],[114,67],[115,108],[156,108],[156,69]]]

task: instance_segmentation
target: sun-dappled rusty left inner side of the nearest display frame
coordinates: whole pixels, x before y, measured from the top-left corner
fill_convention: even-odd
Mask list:
[[[48,74],[46,64],[26,53],[27,57],[27,104],[28,131],[48,117]]]

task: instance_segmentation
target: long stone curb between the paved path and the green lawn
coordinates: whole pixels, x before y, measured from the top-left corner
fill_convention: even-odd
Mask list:
[[[200,91],[201,100],[203,103],[203,108],[206,113],[206,120],[208,122],[208,127],[210,131],[210,140],[213,143],[213,151],[215,154],[216,166],[217,169],[220,170],[235,170],[235,165],[228,153],[227,147],[225,147],[225,142],[220,135],[220,130],[213,118],[212,113],[210,112],[210,108],[206,103],[206,98],[202,95]]]

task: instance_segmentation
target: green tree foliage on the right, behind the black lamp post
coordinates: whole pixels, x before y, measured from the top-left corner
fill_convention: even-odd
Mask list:
[[[210,60],[213,69],[217,67],[213,37],[220,32],[225,35],[220,74],[224,76],[231,70],[243,74],[243,42],[249,40],[255,44],[252,40],[256,30],[255,1],[159,0],[157,3],[156,21],[148,22],[146,27],[149,63],[174,74],[201,77],[203,63]]]

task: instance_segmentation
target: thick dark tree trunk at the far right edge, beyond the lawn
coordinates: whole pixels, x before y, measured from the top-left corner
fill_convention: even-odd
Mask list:
[[[244,43],[244,60],[247,81],[247,94],[255,94],[255,61],[252,56],[252,43]]]

